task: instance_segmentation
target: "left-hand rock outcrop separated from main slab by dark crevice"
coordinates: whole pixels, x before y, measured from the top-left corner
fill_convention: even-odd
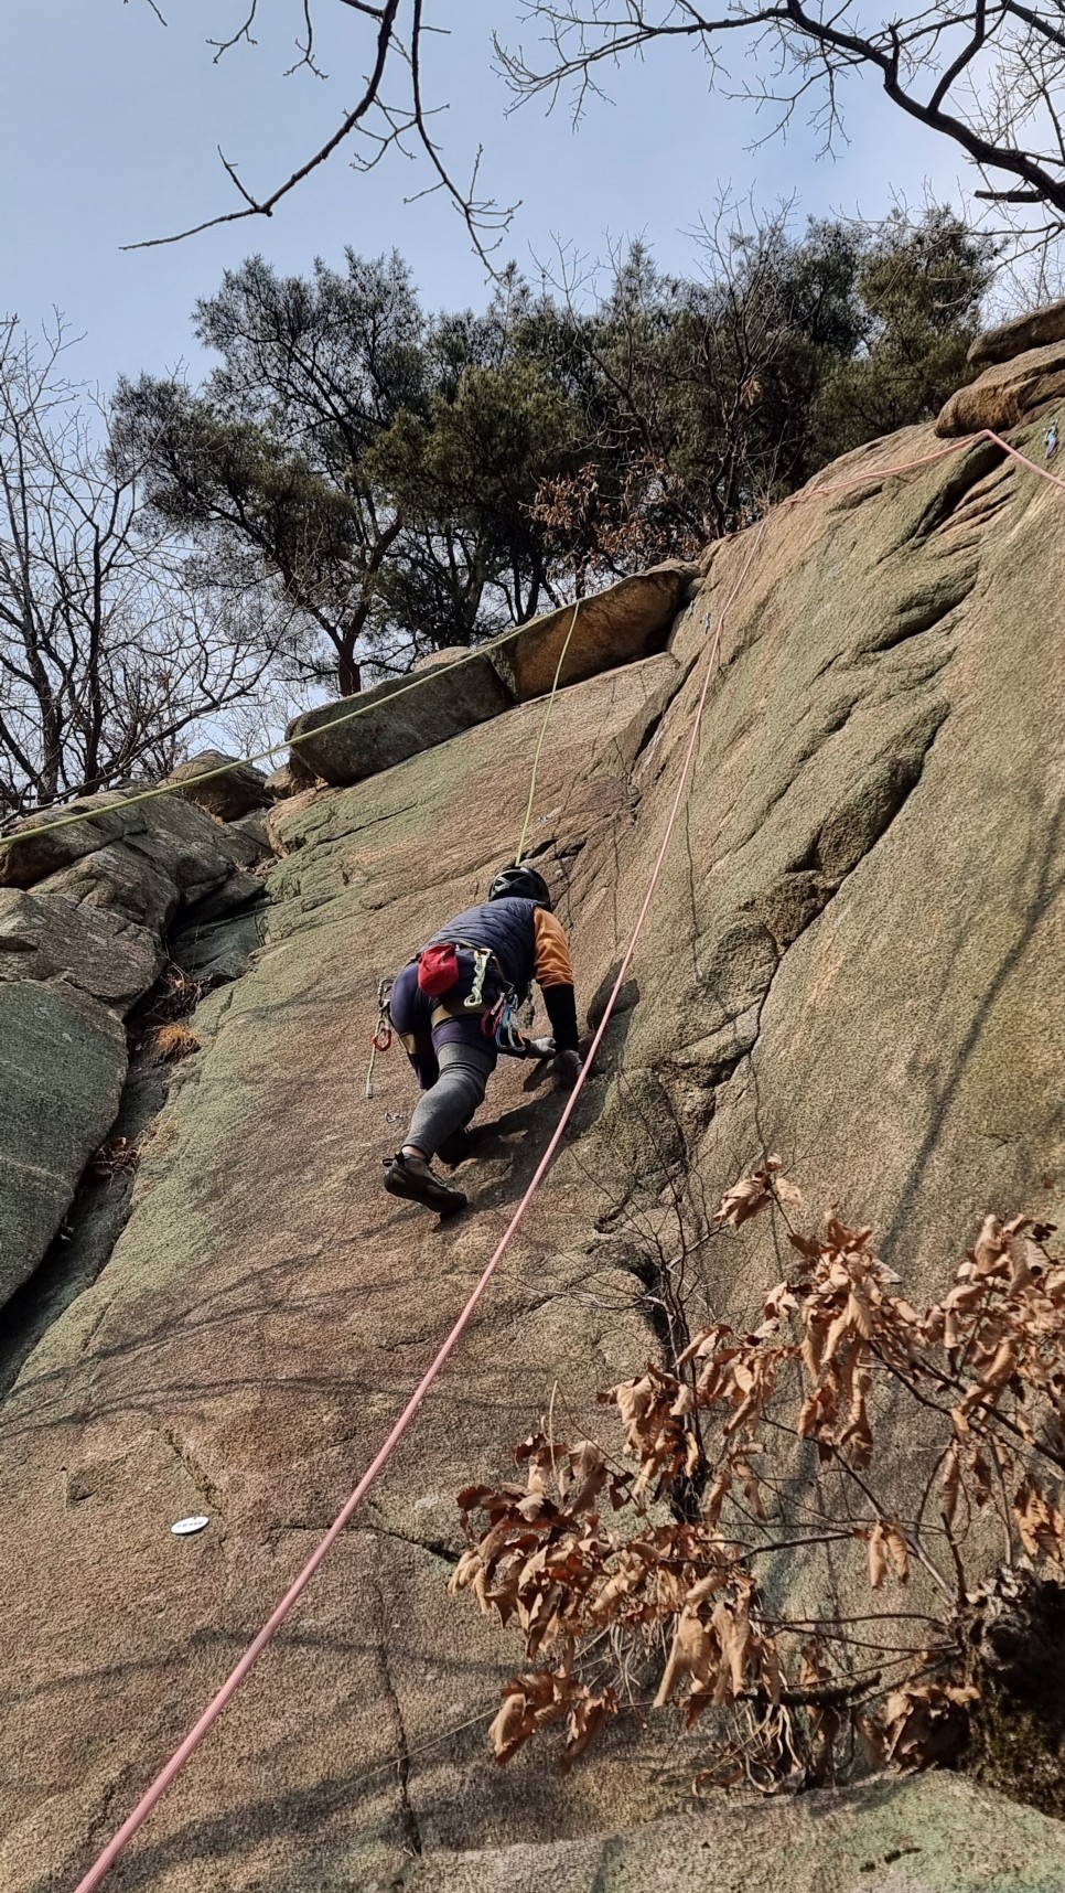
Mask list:
[[[85,1162],[115,1123],[127,1075],[121,1020],[166,962],[166,929],[206,901],[248,909],[261,839],[178,797],[100,795],[32,818],[0,846],[0,1306],[36,1270]],[[81,820],[70,820],[70,814]],[[191,977],[233,977],[206,954]],[[197,958],[199,956],[199,958]]]

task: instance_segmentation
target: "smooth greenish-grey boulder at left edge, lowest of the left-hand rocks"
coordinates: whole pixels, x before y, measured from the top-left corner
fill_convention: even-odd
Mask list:
[[[121,1022],[70,984],[0,982],[0,1302],[32,1274],[127,1070]]]

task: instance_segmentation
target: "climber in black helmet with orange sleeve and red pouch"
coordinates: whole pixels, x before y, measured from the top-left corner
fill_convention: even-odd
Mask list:
[[[550,1035],[526,1039],[516,1011],[539,984]],[[465,1126],[505,1053],[550,1060],[571,1090],[581,1071],[577,1001],[566,933],[550,892],[533,867],[505,867],[488,899],[456,914],[397,975],[388,996],[422,1098],[407,1141],[386,1159],[384,1187],[441,1215],[465,1210],[465,1194],[433,1172],[433,1157],[454,1168],[469,1153]]]

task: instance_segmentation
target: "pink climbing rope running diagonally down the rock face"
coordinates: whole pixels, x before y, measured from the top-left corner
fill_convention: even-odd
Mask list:
[[[889,468],[870,469],[868,473],[859,473],[855,479],[832,483],[830,487],[806,488],[802,494],[793,494],[783,504],[785,505],[794,505],[796,502],[800,502],[804,498],[821,500],[821,498],[825,498],[830,492],[840,492],[840,490],[846,490],[846,488],[855,487],[855,485],[866,485],[870,479],[872,481],[891,479],[895,473],[908,473],[908,471],[914,471],[916,468],[931,466],[936,460],[946,460],[950,454],[955,454],[955,452],[965,451],[967,447],[972,447],[972,443],[978,441],[978,439],[995,441],[1006,454],[1010,454],[1014,460],[1020,460],[1021,466],[1031,468],[1033,473],[1040,473],[1042,479],[1052,481],[1054,487],[1065,488],[1065,481],[1057,479],[1056,473],[1050,473],[1046,468],[1040,468],[1035,460],[1029,460],[1027,454],[1021,454],[1016,447],[1010,447],[1008,441],[1003,441],[989,428],[982,428],[980,433],[970,433],[965,439],[955,441],[950,447],[944,447],[942,451],[938,451],[934,454],[923,454],[917,460],[906,460],[906,462],[900,462],[900,464],[895,464],[895,466],[889,466]],[[673,806],[670,808],[670,820],[666,822],[666,833],[662,835],[662,844],[658,848],[658,856],[656,856],[655,867],[651,871],[651,880],[647,882],[647,892],[643,895],[643,905],[639,909],[639,914],[636,918],[636,926],[632,929],[628,946],[624,950],[624,958],[622,958],[620,967],[617,971],[617,979],[613,982],[609,1000],[605,1003],[603,1017],[602,1017],[600,1026],[598,1026],[598,1030],[596,1030],[596,1034],[592,1037],[592,1043],[588,1047],[588,1056],[585,1060],[585,1066],[583,1066],[583,1070],[581,1070],[581,1073],[577,1077],[577,1083],[575,1083],[573,1090],[569,1092],[569,1096],[566,1100],[566,1106],[564,1106],[564,1111],[562,1111],[562,1115],[558,1119],[558,1124],[556,1124],[556,1128],[554,1128],[554,1132],[550,1136],[550,1141],[549,1141],[549,1145],[547,1145],[547,1149],[545,1149],[545,1153],[543,1153],[543,1157],[541,1157],[541,1160],[539,1160],[539,1164],[537,1164],[537,1168],[535,1168],[535,1172],[533,1172],[533,1176],[532,1176],[532,1179],[530,1179],[530,1183],[526,1187],[526,1193],[524,1193],[522,1200],[518,1202],[518,1206],[516,1206],[511,1221],[507,1223],[507,1229],[503,1230],[503,1234],[501,1234],[501,1238],[499,1238],[499,1242],[498,1242],[498,1246],[496,1246],[490,1261],[486,1263],[484,1272],[482,1272],[480,1280],[477,1282],[477,1287],[469,1295],[469,1300],[465,1302],[465,1308],[458,1316],[458,1319],[456,1319],[454,1327],[450,1329],[450,1333],[446,1335],[446,1338],[441,1342],[437,1353],[433,1355],[429,1367],[422,1374],[422,1380],[414,1388],[414,1393],[407,1401],[407,1405],[405,1405],[403,1412],[399,1414],[395,1425],[392,1427],[388,1439],[382,1442],[382,1446],[378,1448],[378,1452],[375,1454],[375,1458],[367,1465],[363,1477],[359,1478],[358,1486],[354,1488],[354,1492],[348,1497],[348,1501],[344,1503],[344,1507],[337,1513],[337,1518],[329,1526],[325,1537],[312,1550],[310,1558],[303,1566],[303,1571],[299,1573],[299,1577],[293,1579],[293,1583],[286,1590],[284,1598],[280,1600],[280,1603],[276,1605],[276,1609],[271,1613],[271,1617],[267,1619],[267,1622],[259,1630],[257,1637],[248,1645],[248,1649],[240,1656],[238,1664],[229,1672],[229,1675],[227,1675],[225,1683],[221,1685],[221,1689],[218,1690],[218,1694],[212,1696],[212,1700],[208,1702],[208,1706],[202,1711],[201,1719],[195,1723],[193,1728],[189,1728],[189,1734],[185,1736],[185,1740],[182,1742],[182,1745],[178,1749],[174,1749],[174,1755],[170,1757],[170,1760],[166,1762],[166,1766],[159,1770],[159,1774],[151,1781],[151,1787],[148,1787],[144,1791],[144,1795],[140,1796],[140,1800],[138,1800],[136,1808],[132,1810],[132,1813],[123,1821],[123,1825],[119,1827],[119,1831],[108,1842],[108,1846],[98,1855],[98,1859],[93,1863],[93,1866],[83,1876],[83,1880],[78,1882],[76,1893],[96,1893],[96,1887],[102,1884],[104,1876],[115,1865],[115,1861],[117,1861],[119,1853],[123,1851],[123,1848],[127,1846],[127,1842],[132,1840],[132,1836],[144,1825],[144,1821],[148,1819],[148,1815],[151,1813],[151,1810],[159,1804],[159,1800],[163,1798],[163,1795],[166,1793],[166,1789],[170,1787],[170,1783],[176,1779],[176,1776],[180,1776],[180,1772],[185,1766],[185,1762],[189,1760],[189,1757],[195,1755],[195,1751],[199,1749],[201,1742],[204,1740],[204,1736],[208,1734],[208,1730],[214,1726],[214,1723],[218,1721],[218,1717],[225,1709],[227,1702],[231,1702],[231,1698],[240,1689],[240,1685],[244,1681],[244,1677],[248,1675],[248,1672],[253,1668],[253,1664],[259,1660],[259,1656],[263,1654],[263,1651],[267,1649],[267,1645],[272,1641],[272,1637],[276,1636],[276,1632],[284,1624],[286,1617],[289,1615],[293,1603],[303,1596],[303,1592],[310,1584],[310,1579],[320,1569],[320,1566],[325,1562],[325,1558],[329,1556],[333,1545],[337,1543],[337,1539],[340,1537],[340,1533],[344,1531],[344,1528],[350,1524],[350,1520],[354,1518],[356,1511],[359,1509],[359,1505],[361,1505],[363,1497],[367,1495],[369,1488],[375,1484],[375,1480],[378,1478],[378,1475],[384,1471],[384,1467],[386,1467],[388,1460],[392,1458],[392,1454],[395,1452],[399,1441],[409,1431],[412,1420],[418,1414],[418,1408],[422,1406],[422,1401],[426,1399],[426,1395],[428,1395],[429,1388],[433,1386],[433,1382],[439,1378],[439,1374],[441,1374],[445,1363],[448,1361],[448,1357],[454,1353],[458,1342],[462,1340],[465,1329],[469,1327],[469,1323],[473,1319],[477,1304],[480,1302],[484,1291],[488,1289],[488,1283],[492,1282],[492,1276],[496,1274],[499,1263],[503,1261],[503,1255],[511,1247],[511,1242],[513,1242],[513,1238],[515,1238],[515,1234],[516,1234],[516,1230],[518,1230],[518,1227],[520,1227],[520,1223],[522,1223],[522,1219],[526,1215],[526,1210],[528,1210],[532,1198],[535,1196],[535,1193],[537,1193],[537,1189],[539,1189],[539,1185],[541,1185],[547,1170],[550,1168],[550,1160],[552,1160],[552,1157],[554,1157],[554,1153],[556,1153],[556,1149],[558,1149],[558,1145],[562,1141],[566,1126],[569,1124],[569,1119],[573,1117],[573,1111],[577,1107],[577,1100],[579,1100],[579,1096],[581,1096],[581,1092],[585,1088],[588,1071],[592,1068],[592,1062],[596,1058],[596,1053],[598,1053],[598,1049],[600,1049],[600,1045],[603,1041],[603,1034],[605,1034],[607,1024],[611,1020],[613,1009],[617,1005],[617,998],[619,998],[619,992],[620,992],[620,988],[624,984],[624,977],[628,973],[628,967],[632,965],[632,958],[636,954],[636,946],[637,946],[639,935],[643,931],[643,922],[647,920],[647,914],[651,911],[651,901],[655,899],[655,890],[656,890],[658,878],[662,875],[662,865],[666,861],[666,852],[670,848],[670,840],[673,839],[673,829],[677,825],[677,818],[679,818],[679,812],[681,812],[681,803],[685,799],[685,789],[689,786],[689,776],[690,776],[690,770],[692,770],[692,763],[694,763],[694,755],[696,755],[698,740],[700,740],[700,733],[702,733],[702,719],[704,719],[704,714],[706,714],[706,702],[707,702],[707,695],[709,695],[709,685],[711,685],[713,674],[717,670],[717,661],[721,657],[721,638],[723,638],[723,630],[725,630],[725,619],[726,619],[726,613],[730,611],[732,604],[736,602],[736,598],[738,598],[738,594],[740,594],[740,591],[742,591],[742,587],[745,583],[745,577],[747,577],[747,572],[751,570],[751,564],[755,562],[755,557],[757,557],[759,547],[762,543],[762,538],[766,534],[768,522],[770,522],[770,515],[766,513],[762,517],[762,521],[759,522],[759,526],[755,528],[755,532],[751,534],[751,545],[747,547],[747,557],[743,558],[743,562],[740,566],[740,572],[736,575],[736,581],[734,581],[734,585],[732,585],[732,589],[730,589],[725,604],[721,606],[721,611],[717,613],[717,623],[715,623],[715,630],[713,630],[713,638],[711,638],[711,646],[709,646],[709,655],[707,655],[707,663],[706,663],[706,676],[704,676],[704,681],[702,681],[702,689],[700,689],[696,710],[694,710],[694,717],[692,717],[692,731],[690,731],[690,736],[689,736],[689,746],[685,750],[685,757],[683,757],[683,763],[681,763],[681,776],[679,776],[679,782],[677,782],[677,793],[673,795]]]

